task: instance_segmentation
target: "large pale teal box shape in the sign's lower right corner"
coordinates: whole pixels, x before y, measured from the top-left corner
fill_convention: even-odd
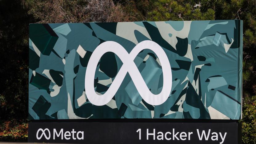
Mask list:
[[[230,119],[239,119],[241,114],[241,104],[219,91],[216,91],[211,106]]]

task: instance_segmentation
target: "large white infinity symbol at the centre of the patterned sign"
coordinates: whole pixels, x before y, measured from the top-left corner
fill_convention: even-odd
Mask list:
[[[144,82],[137,66],[134,63],[134,59],[137,54],[144,50],[150,49],[157,56],[162,66],[163,71],[163,88],[160,94],[152,94]],[[97,64],[106,52],[115,53],[123,62],[118,74],[116,75],[114,81],[110,85],[109,89],[105,94],[98,95],[94,90],[94,76]],[[85,91],[88,100],[96,105],[102,106],[110,102],[113,96],[116,94],[118,88],[120,87],[126,73],[130,74],[135,87],[137,88],[141,97],[150,105],[160,105],[164,103],[170,95],[172,87],[172,72],[170,62],[166,56],[164,50],[156,42],[153,41],[142,41],[138,43],[133,50],[128,54],[128,52],[119,43],[113,41],[107,41],[100,44],[92,53],[85,74]]]

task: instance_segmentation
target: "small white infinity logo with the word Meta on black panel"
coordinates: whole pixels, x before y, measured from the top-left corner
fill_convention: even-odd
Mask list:
[[[39,136],[39,132],[42,132],[42,134]],[[45,137],[47,140],[49,140],[51,138],[51,133],[50,133],[50,130],[48,128],[46,129],[38,129],[37,130],[37,133],[36,133],[36,138],[38,140],[40,140],[42,137]],[[83,131],[74,131],[74,129],[72,129],[72,131],[66,131],[66,132],[63,132],[63,129],[61,129],[59,132],[57,132],[56,129],[53,129],[53,139],[57,138],[57,137],[60,137],[62,140],[63,140],[63,137],[66,139],[66,140],[69,140],[69,139],[73,139],[73,140],[82,140],[84,139],[84,132]]]

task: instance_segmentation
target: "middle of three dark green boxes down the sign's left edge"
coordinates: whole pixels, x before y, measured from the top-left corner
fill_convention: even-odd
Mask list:
[[[50,86],[51,80],[42,76],[41,74],[36,73],[35,76],[32,74],[32,77],[29,83],[37,87],[38,89],[46,90],[48,93],[50,93],[49,86]]]

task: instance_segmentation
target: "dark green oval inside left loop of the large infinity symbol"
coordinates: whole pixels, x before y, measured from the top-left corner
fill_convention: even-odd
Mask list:
[[[100,70],[110,78],[114,78],[117,74],[117,62],[113,52],[106,52],[100,58]]]

